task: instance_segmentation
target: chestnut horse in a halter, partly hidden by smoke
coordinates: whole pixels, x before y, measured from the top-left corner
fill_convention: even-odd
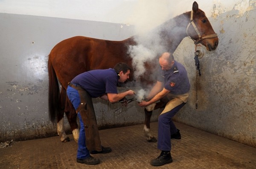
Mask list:
[[[195,44],[201,43],[209,51],[218,46],[218,36],[212,29],[204,11],[193,3],[192,11],[180,14],[168,20],[158,28],[161,43],[165,51],[174,52],[184,37],[189,36]],[[67,99],[67,84],[76,75],[92,69],[108,69],[118,62],[125,62],[132,66],[132,58],[128,52],[129,46],[137,45],[134,37],[122,41],[100,40],[90,37],[71,37],[58,43],[49,54],[49,117],[55,123],[57,117],[57,131],[61,141],[69,141],[64,132],[64,112],[70,123],[74,140],[78,140],[79,130],[76,121],[76,111]],[[155,61],[155,63],[158,63]],[[150,71],[150,70],[149,70]],[[59,90],[59,83],[61,91]],[[144,81],[146,82],[146,81]],[[159,102],[156,109],[163,106]],[[150,118],[152,111],[145,109],[144,132],[148,141],[157,141],[150,134]]]

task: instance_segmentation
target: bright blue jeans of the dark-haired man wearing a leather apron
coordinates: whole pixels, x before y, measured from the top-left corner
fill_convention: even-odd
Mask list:
[[[77,109],[80,104],[80,96],[78,91],[70,86],[67,86],[67,97],[73,104],[74,108]],[[86,148],[83,120],[81,118],[80,113],[78,113],[77,116],[79,117],[79,122],[80,122],[80,132],[79,132],[78,149],[77,149],[76,158],[84,159],[90,156],[90,152]]]

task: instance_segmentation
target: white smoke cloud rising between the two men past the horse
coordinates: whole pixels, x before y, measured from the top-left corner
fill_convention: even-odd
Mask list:
[[[161,3],[159,1],[139,0],[134,5],[134,14],[131,14],[127,21],[135,26],[135,32],[138,34],[138,36],[134,37],[137,45],[129,46],[128,51],[133,60],[135,79],[139,79],[145,73],[145,62],[158,63],[160,54],[167,51],[161,45],[164,42],[159,34],[160,25],[176,16],[177,13],[181,14],[180,9],[183,9],[183,12],[185,12],[186,9],[191,10],[192,8],[192,3],[190,4],[190,2],[186,4],[189,8],[184,6],[184,2],[179,3],[179,6],[182,6],[182,8],[176,8],[176,5],[178,5],[177,1],[175,1],[176,7],[174,8],[173,3],[172,0],[162,0]],[[152,74],[152,77],[155,77],[155,74]],[[141,89],[142,86],[140,84],[136,84],[136,86],[140,88],[139,91],[135,91],[139,97],[138,100],[147,96],[152,88],[152,86],[147,86],[146,88],[144,86]]]

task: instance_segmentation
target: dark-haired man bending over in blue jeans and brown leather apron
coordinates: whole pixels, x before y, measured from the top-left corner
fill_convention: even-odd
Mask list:
[[[131,72],[126,63],[117,63],[114,68],[97,69],[77,75],[67,87],[67,96],[80,120],[80,132],[76,161],[95,165],[100,163],[98,158],[90,154],[111,152],[110,147],[103,147],[99,139],[92,98],[100,97],[111,103],[118,102],[134,91],[117,92],[117,83],[124,83]]]

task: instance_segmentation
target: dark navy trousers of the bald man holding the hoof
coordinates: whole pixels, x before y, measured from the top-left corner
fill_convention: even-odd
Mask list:
[[[163,113],[158,117],[158,142],[157,149],[171,151],[171,135],[178,130],[172,121],[172,117],[185,105],[182,103],[171,111]]]

